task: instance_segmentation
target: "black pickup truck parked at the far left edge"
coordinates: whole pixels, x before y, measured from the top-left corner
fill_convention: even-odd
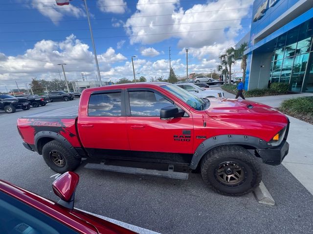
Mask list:
[[[14,113],[16,109],[29,110],[30,102],[27,98],[16,98],[11,95],[0,95],[0,110]]]

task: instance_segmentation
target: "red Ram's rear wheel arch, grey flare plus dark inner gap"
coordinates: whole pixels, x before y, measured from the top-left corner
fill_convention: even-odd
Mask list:
[[[51,131],[41,131],[35,135],[35,148],[38,154],[43,154],[43,147],[46,143],[57,140],[61,144],[63,144],[67,149],[73,154],[76,158],[81,158],[75,148],[68,142],[68,140],[60,135],[59,133],[51,132]]]

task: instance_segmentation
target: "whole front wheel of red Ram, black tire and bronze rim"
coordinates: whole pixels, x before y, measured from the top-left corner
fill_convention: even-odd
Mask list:
[[[210,150],[201,161],[201,176],[223,195],[244,195],[261,182],[262,171],[256,158],[238,145]]]

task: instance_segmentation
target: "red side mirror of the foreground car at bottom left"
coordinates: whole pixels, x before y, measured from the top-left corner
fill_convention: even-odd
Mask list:
[[[75,191],[79,176],[74,172],[66,172],[52,183],[55,195],[60,197],[58,204],[70,210],[74,208]]]

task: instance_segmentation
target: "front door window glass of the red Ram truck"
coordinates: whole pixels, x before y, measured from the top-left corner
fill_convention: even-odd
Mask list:
[[[160,116],[166,106],[175,106],[163,96],[152,91],[131,91],[129,101],[132,116]]]

